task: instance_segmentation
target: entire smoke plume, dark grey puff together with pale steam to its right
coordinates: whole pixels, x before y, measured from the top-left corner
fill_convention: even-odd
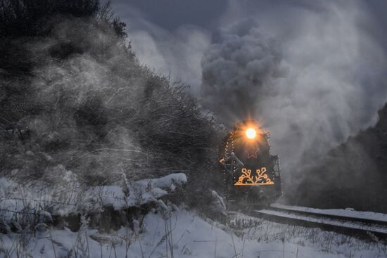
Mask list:
[[[301,161],[376,122],[387,95],[386,53],[372,36],[372,16],[357,1],[286,1],[276,8],[231,1],[222,24],[253,14],[260,27],[241,22],[225,29],[205,53],[203,93],[222,118],[243,118],[253,109],[248,112],[272,133],[290,184],[300,180]],[[288,72],[278,78],[282,65]]]

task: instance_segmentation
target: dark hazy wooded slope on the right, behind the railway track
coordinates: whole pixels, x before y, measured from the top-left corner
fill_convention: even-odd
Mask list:
[[[305,164],[298,191],[286,196],[293,205],[387,213],[387,104],[374,127]]]

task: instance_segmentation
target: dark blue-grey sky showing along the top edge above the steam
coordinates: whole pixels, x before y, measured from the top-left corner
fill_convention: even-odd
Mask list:
[[[313,2],[303,0],[260,0],[241,1],[251,13],[258,9],[279,8],[280,6],[316,6]],[[387,1],[363,0],[370,13],[383,27],[387,25]],[[229,1],[225,0],[113,0],[115,12],[125,19],[130,8],[141,11],[146,18],[165,28],[176,30],[181,25],[191,24],[213,28],[214,22],[226,11]],[[286,11],[286,10],[285,10]],[[125,14],[126,13],[126,14]]]

